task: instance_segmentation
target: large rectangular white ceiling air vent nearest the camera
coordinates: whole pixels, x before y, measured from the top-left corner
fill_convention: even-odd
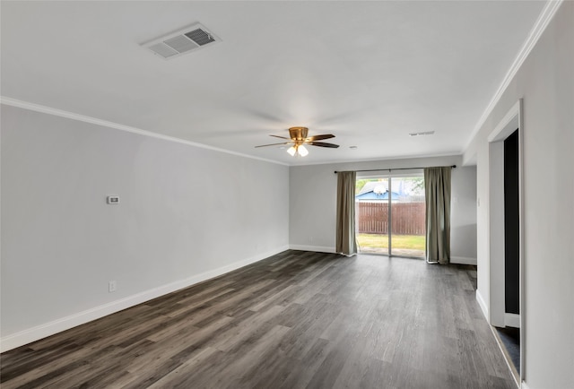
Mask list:
[[[143,43],[142,47],[149,48],[153,54],[164,59],[171,59],[220,41],[221,39],[213,35],[204,26],[195,23],[183,30]]]

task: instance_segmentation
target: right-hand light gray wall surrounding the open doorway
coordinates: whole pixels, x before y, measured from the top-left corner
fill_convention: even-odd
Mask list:
[[[564,2],[465,155],[477,156],[478,290],[489,296],[487,136],[524,99],[524,375],[574,387],[574,3]]]

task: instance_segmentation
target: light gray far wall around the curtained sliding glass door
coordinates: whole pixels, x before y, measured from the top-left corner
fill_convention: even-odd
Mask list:
[[[460,165],[460,156],[377,160],[296,166],[290,169],[290,228],[292,248],[334,252],[336,219],[335,170],[413,168]],[[385,172],[382,172],[383,174]],[[453,263],[476,261],[476,169],[453,170],[451,256]]]

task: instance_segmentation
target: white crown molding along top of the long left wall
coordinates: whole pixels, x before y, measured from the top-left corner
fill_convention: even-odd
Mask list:
[[[152,138],[161,139],[163,141],[186,144],[187,146],[194,146],[194,147],[199,147],[202,149],[207,149],[207,150],[212,150],[212,151],[225,152],[227,154],[237,155],[239,157],[248,158],[250,160],[262,160],[264,162],[274,163],[275,165],[289,166],[286,163],[278,162],[276,160],[267,160],[265,158],[254,157],[252,155],[243,154],[243,153],[236,152],[236,151],[230,151],[230,150],[220,149],[219,147],[208,146],[208,145],[203,144],[203,143],[186,141],[185,139],[176,138],[175,136],[157,134],[157,133],[154,133],[152,131],[142,130],[141,128],[131,127],[129,125],[120,125],[120,124],[117,124],[114,122],[109,122],[108,120],[102,120],[102,119],[99,119],[96,117],[87,117],[85,115],[74,114],[74,112],[65,111],[63,109],[46,107],[46,106],[42,106],[39,104],[34,104],[34,103],[27,102],[27,101],[22,101],[19,99],[12,99],[12,98],[9,98],[6,96],[0,96],[0,103],[7,105],[7,106],[29,109],[31,111],[40,112],[40,113],[52,115],[55,117],[65,117],[68,119],[77,120],[77,121],[84,122],[84,123],[90,123],[92,125],[101,125],[101,126],[113,128],[113,129],[116,129],[119,131],[126,131],[126,132],[132,133],[132,134],[150,136]]]

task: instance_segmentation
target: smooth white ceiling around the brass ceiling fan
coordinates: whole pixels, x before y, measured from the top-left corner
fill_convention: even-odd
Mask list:
[[[2,1],[2,95],[291,165],[455,154],[544,5]],[[139,46],[194,22],[222,42]],[[341,147],[254,148],[294,125]]]

